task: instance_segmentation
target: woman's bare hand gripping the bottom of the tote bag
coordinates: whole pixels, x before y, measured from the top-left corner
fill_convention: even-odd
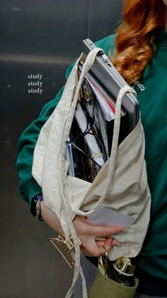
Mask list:
[[[76,234],[81,240],[81,250],[85,255],[98,257],[105,254],[113,246],[120,245],[111,235],[121,233],[125,230],[122,225],[96,225],[90,223],[86,217],[76,215],[73,220]],[[103,237],[105,240],[96,240],[96,237]]]

